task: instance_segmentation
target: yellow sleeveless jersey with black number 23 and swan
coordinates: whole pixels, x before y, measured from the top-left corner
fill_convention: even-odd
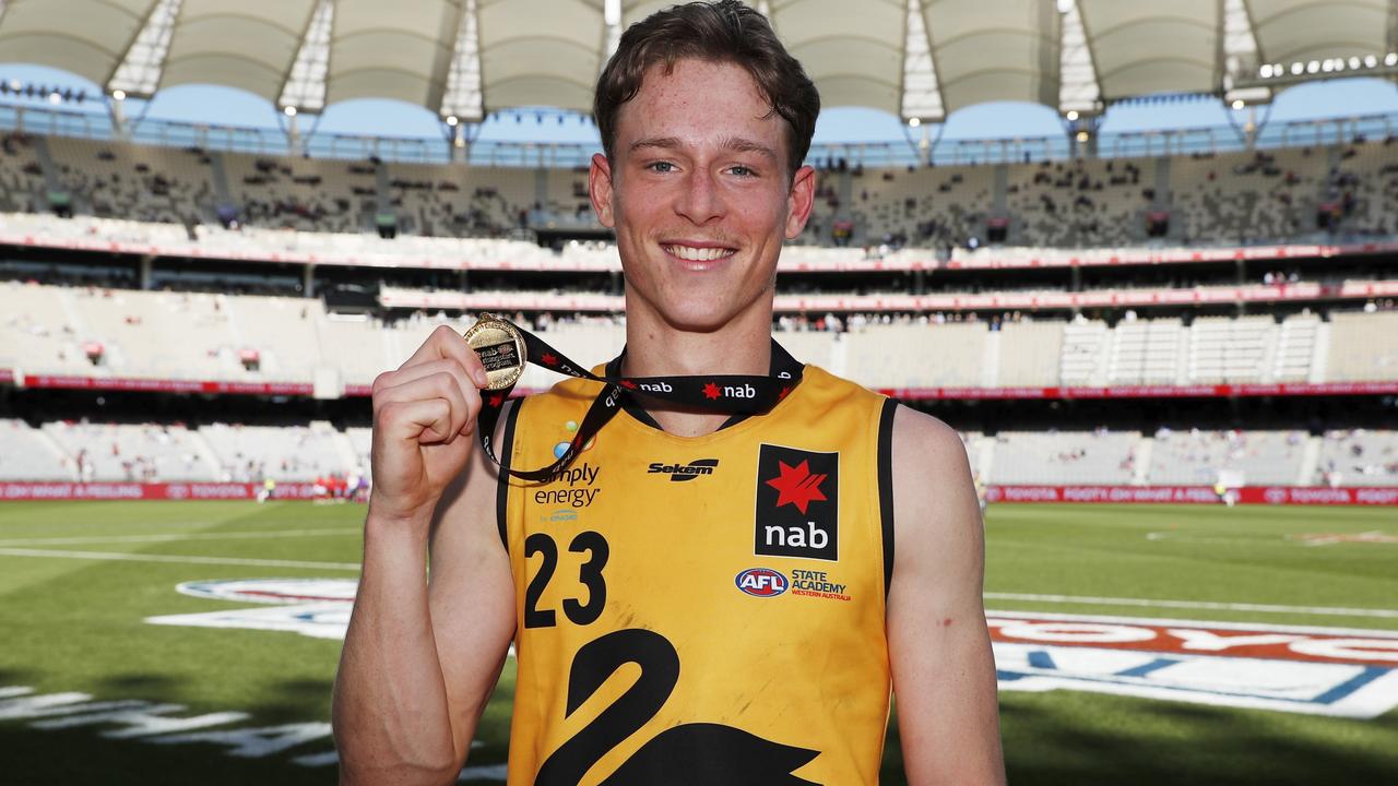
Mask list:
[[[509,464],[552,463],[601,387],[521,401]],[[509,783],[877,783],[892,415],[805,366],[763,415],[681,438],[626,408],[548,481],[502,481]]]

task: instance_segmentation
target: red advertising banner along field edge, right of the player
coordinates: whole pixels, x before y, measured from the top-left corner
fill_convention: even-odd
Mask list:
[[[1229,494],[1239,505],[1398,505],[1398,487],[1246,485]],[[991,485],[986,501],[1223,503],[1208,485]]]

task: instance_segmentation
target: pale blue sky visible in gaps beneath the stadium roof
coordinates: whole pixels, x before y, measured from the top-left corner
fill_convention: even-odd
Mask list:
[[[87,90],[98,95],[98,85],[57,69],[0,63],[0,80],[18,80],[60,90]],[[15,102],[14,97],[7,97]],[[21,99],[24,102],[24,99]],[[43,99],[28,103],[45,105]],[[145,110],[150,119],[166,119],[215,126],[277,127],[277,109],[263,98],[235,88],[218,85],[179,85],[155,95],[148,108],[141,101],[127,101],[129,116]],[[69,109],[80,106],[69,105]],[[88,101],[81,109],[102,112],[102,105]],[[1100,133],[1123,133],[1166,129],[1223,127],[1230,122],[1241,124],[1248,109],[1232,110],[1212,97],[1187,98],[1166,103],[1116,105],[1103,117]],[[1348,117],[1356,115],[1398,113],[1398,85],[1376,78],[1346,78],[1310,83],[1281,92],[1269,108],[1258,108],[1257,119],[1269,122]],[[562,122],[559,122],[562,119]],[[310,117],[301,117],[302,129]],[[442,138],[443,130],[436,115],[421,106],[398,101],[355,99],[336,103],[320,116],[317,133],[366,134],[380,137]],[[935,127],[928,133],[937,134]],[[941,129],[942,140],[1051,137],[1064,131],[1057,112],[1042,105],[1021,102],[991,102],[953,112]],[[860,108],[833,108],[821,113],[815,129],[815,143],[877,143],[903,141],[910,131],[898,117]],[[478,140],[582,143],[596,144],[597,131],[579,116],[561,116],[544,110],[542,120],[531,109],[509,110],[488,119]]]

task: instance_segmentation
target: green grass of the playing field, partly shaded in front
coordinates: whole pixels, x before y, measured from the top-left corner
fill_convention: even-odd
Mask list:
[[[362,515],[301,502],[0,505],[0,782],[333,783],[317,757],[331,750],[338,641],[145,618],[256,606],[180,594],[182,582],[354,579]],[[1394,509],[1001,505],[987,533],[997,611],[1398,631]],[[1314,533],[1374,536],[1297,537]],[[499,779],[489,765],[505,761],[512,687],[507,664],[473,782]],[[73,692],[99,703],[24,703]],[[182,731],[120,715],[143,708],[246,717]],[[1357,720],[1002,691],[1001,723],[1012,783],[1398,783],[1395,710]],[[199,733],[221,736],[179,738]],[[896,729],[884,782],[903,783]]]

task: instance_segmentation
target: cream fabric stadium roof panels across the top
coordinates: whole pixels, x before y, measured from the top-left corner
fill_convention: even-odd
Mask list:
[[[0,62],[110,94],[221,84],[317,112],[394,98],[442,117],[589,110],[656,0],[0,0]],[[1062,113],[1153,95],[1268,101],[1398,73],[1398,0],[759,0],[825,106],[939,120],[988,101]]]

